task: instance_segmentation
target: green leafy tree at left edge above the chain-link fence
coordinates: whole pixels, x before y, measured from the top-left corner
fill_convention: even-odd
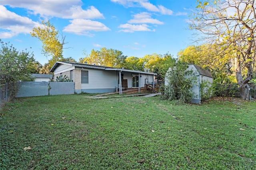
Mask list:
[[[18,81],[32,80],[34,55],[25,51],[17,51],[9,43],[0,39],[0,84],[12,83],[16,87]]]

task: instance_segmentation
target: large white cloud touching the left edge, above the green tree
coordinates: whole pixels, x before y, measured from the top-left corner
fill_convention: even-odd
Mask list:
[[[33,27],[39,27],[40,23],[34,22],[27,17],[22,17],[10,12],[0,5],[0,38],[11,38],[19,33],[30,33]]]

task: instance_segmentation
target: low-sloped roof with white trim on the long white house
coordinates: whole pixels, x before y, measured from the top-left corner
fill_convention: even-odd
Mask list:
[[[57,61],[52,66],[52,68],[50,69],[50,72],[54,72],[54,70],[58,66],[60,66],[61,64],[66,64],[66,65],[75,66],[75,67],[82,67],[82,68],[94,68],[94,69],[102,69],[102,70],[115,70],[115,71],[124,71],[124,72],[134,72],[134,73],[141,73],[141,74],[157,75],[156,73],[152,73],[152,72],[143,72],[143,71],[127,70],[127,69],[107,67],[107,66],[98,66],[98,65],[83,64],[83,63],[73,63],[73,62],[60,62],[60,61]]]

